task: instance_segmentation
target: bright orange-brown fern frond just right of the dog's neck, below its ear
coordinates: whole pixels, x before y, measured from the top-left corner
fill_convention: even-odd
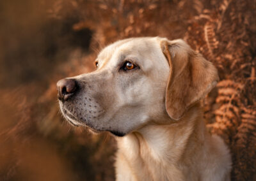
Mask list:
[[[227,143],[236,135],[237,127],[241,124],[240,92],[244,89],[242,83],[232,80],[222,80],[217,85],[218,96],[214,110],[215,122],[212,124],[212,133],[220,134]]]

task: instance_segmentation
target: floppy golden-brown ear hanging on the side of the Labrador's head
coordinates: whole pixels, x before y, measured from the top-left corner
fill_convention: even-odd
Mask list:
[[[170,66],[165,106],[168,115],[179,120],[186,110],[211,91],[218,82],[218,71],[183,40],[161,41]]]

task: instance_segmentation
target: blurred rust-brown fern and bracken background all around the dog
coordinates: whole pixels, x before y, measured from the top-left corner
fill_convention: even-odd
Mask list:
[[[255,0],[0,1],[0,180],[115,179],[115,140],[67,124],[56,82],[138,36],[182,38],[218,68],[205,122],[230,147],[232,180],[256,180],[255,17]]]

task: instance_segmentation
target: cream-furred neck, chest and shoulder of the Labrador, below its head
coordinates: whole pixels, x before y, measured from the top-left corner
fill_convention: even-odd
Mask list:
[[[116,180],[230,180],[228,148],[205,130],[198,106],[175,124],[148,125],[116,140]]]

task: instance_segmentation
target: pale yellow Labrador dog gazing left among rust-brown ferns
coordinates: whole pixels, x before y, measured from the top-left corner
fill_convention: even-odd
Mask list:
[[[115,135],[116,180],[230,180],[231,157],[208,133],[200,99],[218,82],[183,40],[129,38],[98,55],[96,71],[57,83],[74,126]]]

